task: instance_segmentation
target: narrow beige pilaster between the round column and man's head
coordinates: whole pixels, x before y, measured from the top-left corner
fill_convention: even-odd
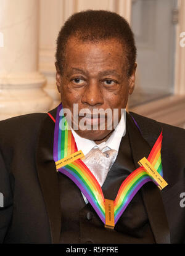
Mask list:
[[[60,103],[55,83],[56,39],[65,20],[75,12],[75,2],[76,0],[39,0],[39,71],[47,80],[44,91],[53,100],[51,109]]]

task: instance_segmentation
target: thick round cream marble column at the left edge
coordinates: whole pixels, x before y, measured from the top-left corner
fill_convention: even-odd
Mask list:
[[[38,0],[0,0],[0,119],[45,112],[52,99],[38,72]]]

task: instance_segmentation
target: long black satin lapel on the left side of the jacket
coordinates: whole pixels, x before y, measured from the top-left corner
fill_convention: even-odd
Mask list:
[[[52,110],[51,113],[55,117],[55,110]],[[61,210],[59,182],[52,156],[54,125],[55,123],[46,114],[39,131],[36,167],[49,217],[52,243],[58,243],[60,239]]]

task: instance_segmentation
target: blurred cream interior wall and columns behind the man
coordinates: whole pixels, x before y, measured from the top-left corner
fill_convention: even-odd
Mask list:
[[[185,128],[185,0],[0,0],[0,120],[56,107],[55,41],[74,12],[125,17],[138,48],[127,109]]]

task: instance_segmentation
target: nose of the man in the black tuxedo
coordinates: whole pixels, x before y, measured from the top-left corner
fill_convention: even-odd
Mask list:
[[[89,82],[89,85],[86,86],[86,89],[83,92],[81,102],[91,106],[104,104],[102,88],[97,81]]]

